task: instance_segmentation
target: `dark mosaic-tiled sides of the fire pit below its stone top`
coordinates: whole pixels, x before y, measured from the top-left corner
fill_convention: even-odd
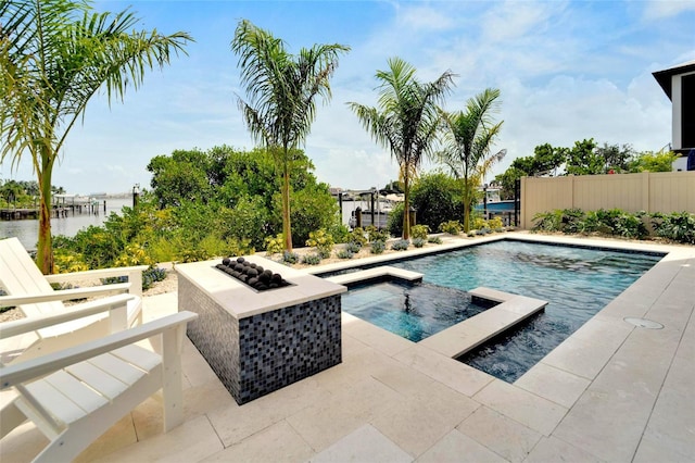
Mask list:
[[[340,295],[239,321],[187,278],[178,285],[179,310],[200,315],[188,337],[239,404],[342,361]]]

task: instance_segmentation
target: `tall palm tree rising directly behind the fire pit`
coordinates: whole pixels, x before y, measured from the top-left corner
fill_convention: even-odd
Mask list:
[[[231,50],[239,54],[241,84],[249,103],[238,98],[251,135],[273,154],[282,173],[282,235],[292,250],[290,223],[290,164],[316,117],[315,97],[330,99],[329,79],[338,67],[338,55],[350,47],[315,45],[290,54],[281,39],[242,20],[237,25]]]

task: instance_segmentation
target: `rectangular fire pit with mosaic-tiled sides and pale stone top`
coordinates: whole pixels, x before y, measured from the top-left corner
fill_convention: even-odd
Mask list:
[[[288,285],[258,291],[216,268],[220,260],[176,266],[178,309],[199,314],[187,335],[239,404],[342,361],[346,290],[261,256],[244,260]]]

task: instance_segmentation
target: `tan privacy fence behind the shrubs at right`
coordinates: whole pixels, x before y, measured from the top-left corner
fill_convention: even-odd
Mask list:
[[[521,228],[539,212],[572,208],[695,213],[695,172],[521,178]]]

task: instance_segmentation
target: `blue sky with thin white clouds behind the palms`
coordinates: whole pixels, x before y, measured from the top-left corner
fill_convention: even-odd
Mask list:
[[[320,182],[343,189],[383,187],[397,178],[388,150],[362,127],[348,102],[377,104],[378,70],[399,57],[421,82],[456,74],[447,111],[485,88],[498,88],[504,121],[493,149],[505,159],[551,143],[630,143],[659,151],[671,141],[671,102],[652,76],[695,59],[695,0],[630,1],[102,1],[97,11],[130,8],[140,29],[189,33],[188,55],[147,74],[142,87],[109,104],[87,107],[53,170],[70,193],[150,188],[150,160],[177,149],[255,143],[238,110],[238,57],[230,49],[241,20],[270,32],[291,53],[316,43],[351,47],[331,78],[332,98],[317,100],[304,150]],[[424,171],[437,168],[426,163]],[[29,157],[0,165],[0,178],[33,180]]]

